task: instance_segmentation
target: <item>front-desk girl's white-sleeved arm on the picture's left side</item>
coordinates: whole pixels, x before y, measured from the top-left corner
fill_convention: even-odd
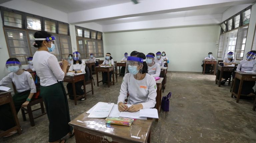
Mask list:
[[[125,111],[125,109],[128,108],[127,105],[123,104],[125,97],[127,96],[127,93],[128,93],[128,83],[127,83],[128,76],[127,75],[128,74],[126,74],[123,78],[123,82],[121,84],[121,89],[118,96],[117,104],[118,104],[119,111]]]

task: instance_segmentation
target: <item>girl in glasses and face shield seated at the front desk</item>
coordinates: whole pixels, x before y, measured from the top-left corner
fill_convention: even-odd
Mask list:
[[[136,112],[142,108],[153,108],[156,104],[156,81],[147,74],[148,66],[143,62],[145,54],[137,53],[131,53],[134,57],[127,58],[128,70],[123,78],[117,102],[119,111]],[[124,104],[128,92],[127,103],[131,104],[131,107]]]

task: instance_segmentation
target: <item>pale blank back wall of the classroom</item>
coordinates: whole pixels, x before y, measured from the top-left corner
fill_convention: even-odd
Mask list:
[[[104,52],[120,61],[125,52],[133,50],[144,54],[165,51],[170,61],[168,70],[201,72],[208,52],[217,55],[219,33],[218,25],[105,33]]]

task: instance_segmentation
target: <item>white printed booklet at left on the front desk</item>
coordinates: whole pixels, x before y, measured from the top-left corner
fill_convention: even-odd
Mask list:
[[[106,118],[112,110],[114,103],[97,103],[88,118]]]

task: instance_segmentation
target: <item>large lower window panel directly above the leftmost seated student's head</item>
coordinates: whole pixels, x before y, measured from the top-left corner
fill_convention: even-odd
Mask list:
[[[26,31],[9,28],[4,31],[10,57],[18,58],[22,64],[26,64],[26,57],[31,55]]]

